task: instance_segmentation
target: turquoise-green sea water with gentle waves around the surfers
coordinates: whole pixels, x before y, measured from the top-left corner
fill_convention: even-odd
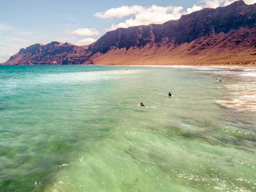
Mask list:
[[[240,74],[0,66],[0,191],[255,191],[256,78]]]

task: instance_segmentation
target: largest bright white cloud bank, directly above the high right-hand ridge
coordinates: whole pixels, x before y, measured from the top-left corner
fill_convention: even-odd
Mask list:
[[[131,15],[131,18],[126,19],[124,22],[118,24],[112,24],[110,28],[105,31],[112,31],[117,28],[127,28],[130,26],[148,25],[151,23],[162,24],[168,20],[176,20],[181,15],[189,14],[202,8],[217,8],[220,6],[229,5],[236,0],[202,0],[197,5],[193,5],[192,8],[187,8],[184,11],[183,7],[161,7],[152,5],[151,7],[142,7],[139,5],[122,6],[119,8],[111,8],[105,12],[95,13],[95,17],[99,18],[123,18]],[[256,0],[244,0],[246,4],[256,3]]]

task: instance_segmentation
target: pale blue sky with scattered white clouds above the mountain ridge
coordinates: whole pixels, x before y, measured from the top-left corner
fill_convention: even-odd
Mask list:
[[[0,63],[51,41],[87,45],[119,27],[161,24],[235,0],[0,0]],[[256,0],[244,0],[246,4]]]

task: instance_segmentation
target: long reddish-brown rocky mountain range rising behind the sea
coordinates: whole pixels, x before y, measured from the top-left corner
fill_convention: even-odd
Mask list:
[[[161,25],[118,28],[89,46],[51,42],[3,64],[174,64],[255,60],[256,4],[242,0]]]

